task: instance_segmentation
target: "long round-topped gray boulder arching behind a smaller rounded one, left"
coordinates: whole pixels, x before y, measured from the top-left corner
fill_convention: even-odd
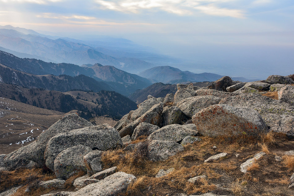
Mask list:
[[[52,137],[47,144],[44,154],[46,166],[53,170],[54,160],[61,151],[80,144],[94,150],[108,150],[123,146],[119,133],[108,124],[59,133]]]

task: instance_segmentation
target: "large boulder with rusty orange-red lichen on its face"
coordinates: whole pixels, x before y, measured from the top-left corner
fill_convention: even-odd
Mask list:
[[[217,104],[207,107],[192,117],[202,135],[216,136],[260,136],[267,126],[257,111]]]

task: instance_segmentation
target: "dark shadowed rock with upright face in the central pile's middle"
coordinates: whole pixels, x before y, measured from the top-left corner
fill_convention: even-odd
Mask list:
[[[188,120],[184,113],[176,106],[165,107],[161,114],[162,127],[169,124],[180,124]]]

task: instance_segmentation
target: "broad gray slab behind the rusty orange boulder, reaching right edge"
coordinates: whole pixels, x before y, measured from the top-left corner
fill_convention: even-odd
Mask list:
[[[294,138],[294,106],[286,102],[250,93],[223,98],[219,103],[254,109],[270,126],[270,131],[284,133],[289,138]]]

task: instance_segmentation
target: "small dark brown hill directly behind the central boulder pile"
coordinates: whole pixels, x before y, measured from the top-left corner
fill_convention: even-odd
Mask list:
[[[177,85],[163,84],[162,82],[160,82],[150,85],[145,89],[137,90],[135,93],[128,96],[128,98],[139,104],[145,101],[148,95],[152,95],[153,97],[165,97],[166,94],[175,94],[176,91]]]

